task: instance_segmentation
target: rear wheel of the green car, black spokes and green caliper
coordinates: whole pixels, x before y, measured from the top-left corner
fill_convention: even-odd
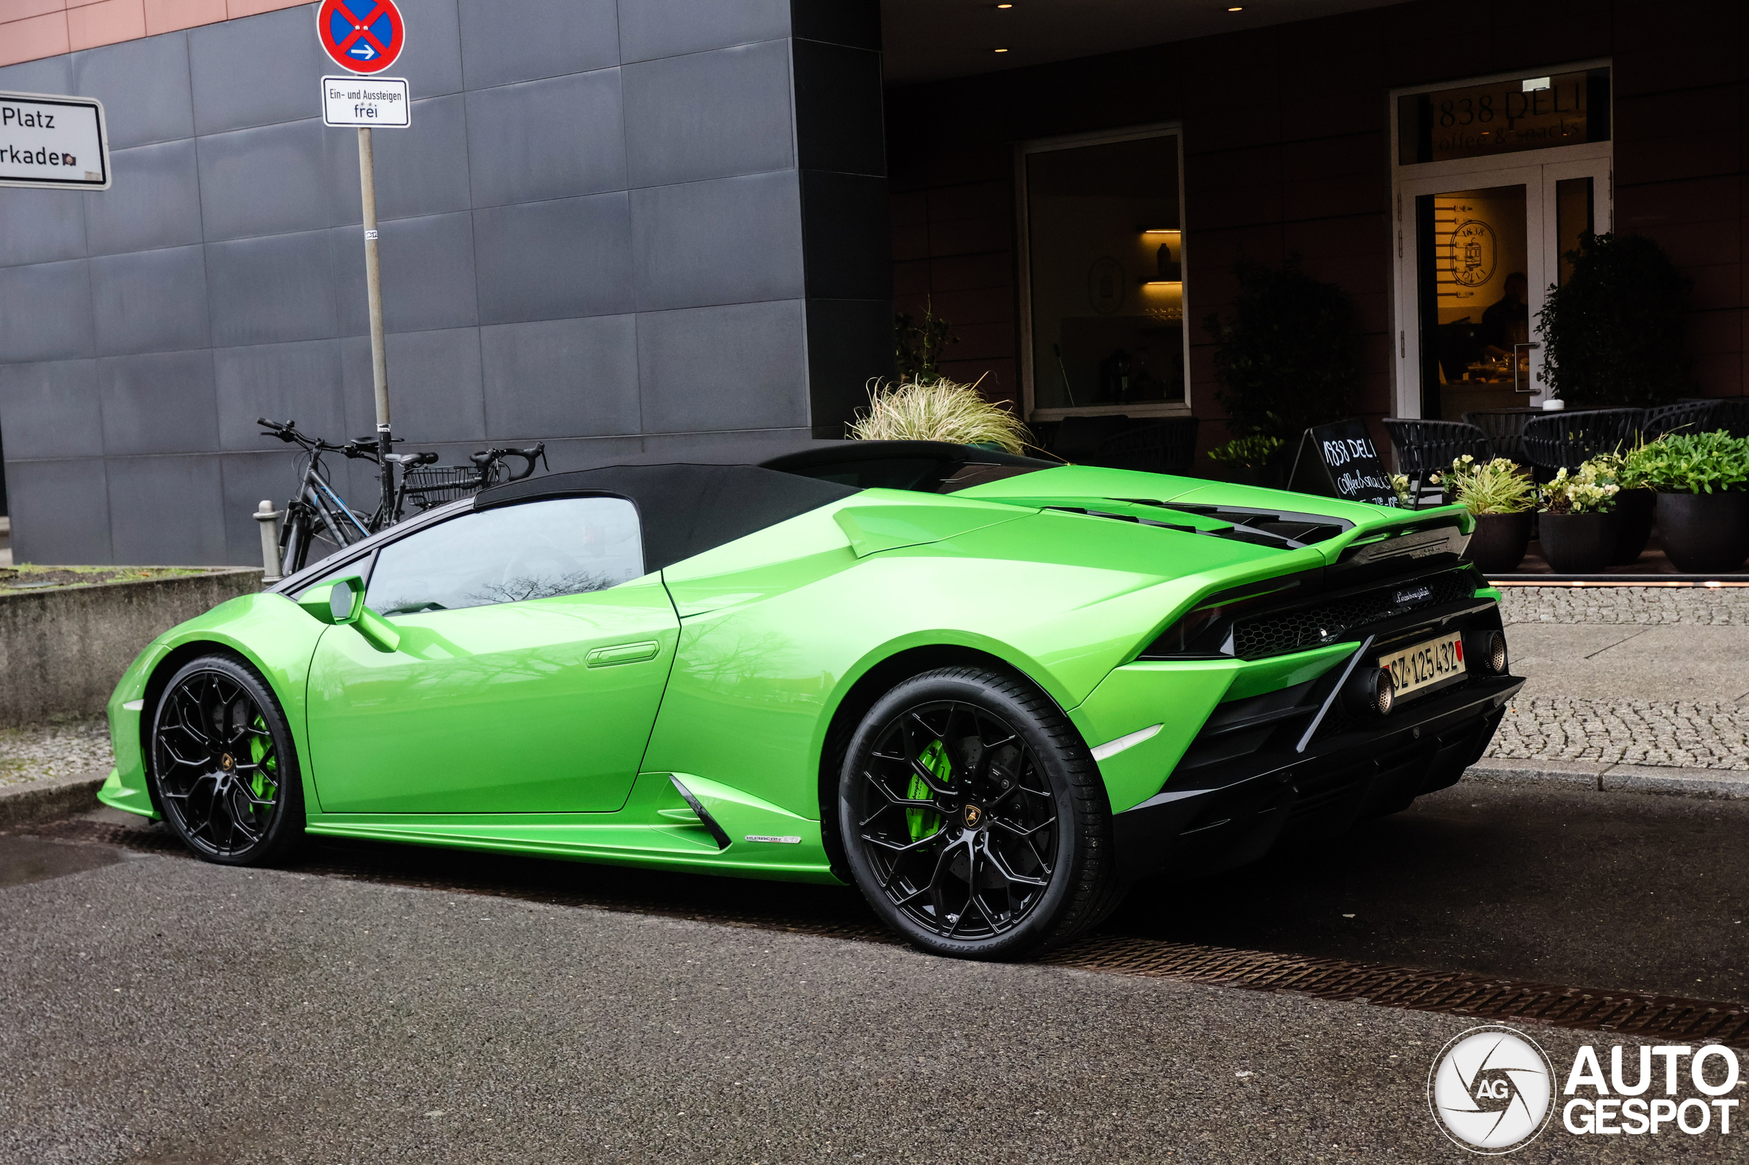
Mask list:
[[[838,826],[852,879],[916,947],[1018,959],[1100,922],[1121,886],[1093,756],[1018,676],[946,667],[850,737]]]

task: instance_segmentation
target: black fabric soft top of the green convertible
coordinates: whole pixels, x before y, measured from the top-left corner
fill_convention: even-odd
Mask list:
[[[1053,463],[932,440],[714,445],[530,477],[481,491],[474,508],[532,498],[628,498],[644,527],[644,569],[656,571],[874,486],[936,493],[965,465],[1027,472]]]

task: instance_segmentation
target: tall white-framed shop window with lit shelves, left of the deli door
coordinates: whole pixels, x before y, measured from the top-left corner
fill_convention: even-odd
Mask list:
[[[1184,402],[1179,138],[1025,154],[1032,409]]]

